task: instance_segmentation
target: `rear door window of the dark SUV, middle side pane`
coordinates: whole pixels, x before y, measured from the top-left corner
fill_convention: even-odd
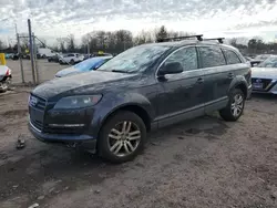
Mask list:
[[[213,67],[226,65],[223,52],[215,46],[199,46],[201,60],[203,67]]]

